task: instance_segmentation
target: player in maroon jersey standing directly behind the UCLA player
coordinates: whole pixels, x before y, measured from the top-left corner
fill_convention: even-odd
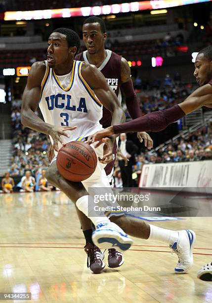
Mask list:
[[[87,50],[76,55],[75,60],[85,61],[87,64],[95,65],[105,76],[108,85],[115,92],[118,100],[122,101],[122,92],[125,95],[128,112],[132,119],[141,116],[141,110],[137,96],[133,89],[132,80],[130,77],[130,67],[127,60],[111,50],[105,50],[105,41],[107,39],[105,23],[101,18],[88,17],[83,25],[83,41]],[[100,124],[103,128],[111,125],[112,115],[109,110],[103,107],[103,116]],[[153,146],[153,141],[145,132],[138,132],[137,137],[140,142],[143,141],[145,146]],[[109,182],[112,181],[113,168],[116,161],[117,144],[114,145],[113,154],[114,160],[108,163],[105,167],[106,175]],[[91,236],[92,228],[90,220],[77,209],[80,221],[82,223],[83,233],[85,235],[86,246],[85,251],[90,258],[90,269],[99,270],[103,266],[99,259],[100,250],[93,246]],[[123,264],[123,254],[115,249],[108,251],[108,266],[119,267]]]

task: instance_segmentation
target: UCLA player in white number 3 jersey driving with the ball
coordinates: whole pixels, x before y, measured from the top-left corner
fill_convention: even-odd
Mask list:
[[[113,113],[112,125],[124,121],[124,112],[101,72],[93,65],[74,61],[80,46],[80,38],[74,31],[64,28],[55,30],[49,37],[48,45],[47,64],[41,61],[32,65],[23,94],[21,121],[24,126],[49,135],[56,154],[65,142],[102,129],[98,122],[101,104]],[[44,122],[35,114],[39,102]],[[100,190],[101,187],[111,190],[103,167],[112,160],[115,140],[115,136],[103,139],[106,153],[102,145],[96,149],[98,164],[87,180],[70,182],[64,179],[57,170],[56,161],[50,164],[46,178],[89,216],[96,226],[92,235],[96,246],[101,244],[102,248],[116,247],[119,251],[126,251],[132,244],[127,234],[160,241],[169,245],[178,256],[174,272],[187,272],[193,265],[192,252],[196,239],[193,231],[167,230],[128,216],[112,217],[111,220],[121,229],[107,217],[88,212],[88,186],[94,190],[99,187]]]

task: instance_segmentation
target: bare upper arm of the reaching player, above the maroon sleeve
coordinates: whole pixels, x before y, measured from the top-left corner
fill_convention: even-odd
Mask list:
[[[179,104],[181,109],[187,115],[190,112],[212,103],[212,86],[206,84],[195,90],[185,101]]]

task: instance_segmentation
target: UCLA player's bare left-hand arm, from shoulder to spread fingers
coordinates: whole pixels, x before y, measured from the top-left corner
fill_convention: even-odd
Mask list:
[[[21,123],[37,132],[50,135],[54,141],[54,149],[59,150],[58,142],[63,144],[60,136],[68,137],[66,130],[73,130],[76,127],[54,126],[42,121],[35,113],[41,96],[41,83],[45,74],[45,63],[35,62],[32,65],[24,90],[21,106]]]

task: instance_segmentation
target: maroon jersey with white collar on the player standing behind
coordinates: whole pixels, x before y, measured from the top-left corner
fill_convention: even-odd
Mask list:
[[[115,92],[118,100],[122,101],[122,94],[120,90],[120,86],[122,85],[121,82],[121,58],[122,56],[118,55],[117,53],[106,50],[107,56],[102,64],[99,66],[98,70],[100,70],[103,75],[105,76],[108,85],[112,88]],[[85,61],[87,64],[90,64],[87,59],[87,50],[81,52],[76,55],[75,60]],[[112,115],[109,110],[103,107],[103,115],[102,119],[99,121],[103,128],[107,128],[111,126]]]

